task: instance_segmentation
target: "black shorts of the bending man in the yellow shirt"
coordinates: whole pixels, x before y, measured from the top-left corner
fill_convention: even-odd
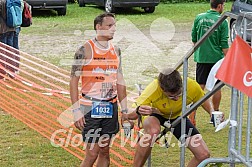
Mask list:
[[[168,119],[162,117],[161,115],[159,114],[151,114],[150,116],[154,116],[156,117],[159,122],[160,122],[160,125],[162,125],[163,127],[164,126],[164,122],[167,121]],[[177,119],[177,118],[176,118]],[[173,121],[175,121],[176,119],[171,119],[170,122],[172,123]],[[176,125],[175,127],[172,127],[171,128],[171,132],[173,133],[173,135],[179,140],[180,137],[181,137],[181,123],[179,123],[178,125]],[[196,134],[200,134],[199,131],[196,129],[195,126],[193,126],[193,124],[191,123],[191,121],[186,118],[186,132],[185,132],[186,136],[185,136],[185,139],[187,137],[191,137],[191,136],[194,136]]]

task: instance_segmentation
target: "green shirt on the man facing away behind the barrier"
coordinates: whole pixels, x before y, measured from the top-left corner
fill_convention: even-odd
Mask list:
[[[192,42],[197,42],[208,29],[220,18],[220,13],[208,10],[197,15],[192,28]],[[220,26],[202,43],[194,53],[197,63],[216,63],[224,57],[222,49],[228,46],[228,21],[223,21]]]

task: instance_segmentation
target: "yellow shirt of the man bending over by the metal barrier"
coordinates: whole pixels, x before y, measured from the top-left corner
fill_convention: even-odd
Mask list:
[[[204,91],[199,84],[188,78],[187,79],[187,100],[186,104],[195,103],[204,96]],[[158,80],[152,81],[142,92],[141,96],[133,104],[133,107],[140,105],[148,105],[157,108],[163,117],[167,119],[175,119],[182,114],[182,96],[178,101],[169,99],[159,86]]]

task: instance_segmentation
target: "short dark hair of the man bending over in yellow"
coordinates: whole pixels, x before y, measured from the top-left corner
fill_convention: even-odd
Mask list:
[[[158,82],[164,92],[176,93],[182,88],[181,75],[173,68],[164,69],[158,76]]]

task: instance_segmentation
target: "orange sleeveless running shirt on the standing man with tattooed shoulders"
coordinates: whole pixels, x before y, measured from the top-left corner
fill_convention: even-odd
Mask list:
[[[114,46],[99,48],[89,40],[92,57],[82,68],[82,94],[100,100],[108,100],[117,95],[116,82],[119,58]]]

